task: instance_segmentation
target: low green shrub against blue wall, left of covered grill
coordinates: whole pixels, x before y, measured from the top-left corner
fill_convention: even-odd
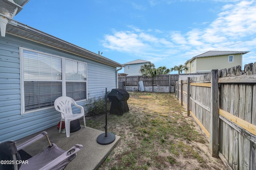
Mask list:
[[[110,110],[110,102],[107,101],[107,112]],[[88,115],[101,115],[106,113],[105,107],[105,96],[104,97],[96,97],[88,99],[85,107],[87,108]]]

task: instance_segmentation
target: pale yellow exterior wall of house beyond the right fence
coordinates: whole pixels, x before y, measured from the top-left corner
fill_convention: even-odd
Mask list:
[[[200,73],[210,72],[212,69],[224,69],[237,65],[242,66],[242,54],[233,54],[233,62],[228,62],[229,55],[211,56],[211,57],[198,57],[194,59],[194,68],[191,67],[186,73]]]

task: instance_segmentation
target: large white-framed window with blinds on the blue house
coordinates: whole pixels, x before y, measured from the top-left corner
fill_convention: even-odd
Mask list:
[[[22,113],[54,106],[60,96],[86,99],[86,63],[20,48]]]

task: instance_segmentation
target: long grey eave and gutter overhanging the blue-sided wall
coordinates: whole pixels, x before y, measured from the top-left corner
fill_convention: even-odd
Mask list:
[[[11,34],[13,36],[24,38],[26,40],[48,45],[50,47],[54,47],[62,51],[67,51],[68,53],[73,53],[81,57],[92,59],[94,61],[105,63],[114,67],[121,67],[121,66],[125,67],[125,65],[117,63],[106,57],[103,57],[102,55],[98,55],[87,49],[84,49],[72,43],[66,42],[64,40],[61,40],[59,38],[56,38],[54,36],[51,36],[49,34],[46,34],[42,31],[36,30],[30,26],[27,26],[25,24],[22,24],[14,20],[12,20],[7,24],[6,34]]]

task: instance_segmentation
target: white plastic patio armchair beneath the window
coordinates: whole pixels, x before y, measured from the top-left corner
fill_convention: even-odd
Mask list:
[[[80,108],[81,112],[73,114],[71,104]],[[70,121],[74,121],[76,119],[79,119],[80,117],[84,118],[84,107],[76,104],[74,99],[67,97],[67,96],[58,97],[54,101],[54,107],[55,107],[56,111],[61,113],[59,132],[61,131],[62,121],[65,121],[66,136],[69,137],[70,136]],[[84,127],[86,127],[85,118],[84,118]]]

